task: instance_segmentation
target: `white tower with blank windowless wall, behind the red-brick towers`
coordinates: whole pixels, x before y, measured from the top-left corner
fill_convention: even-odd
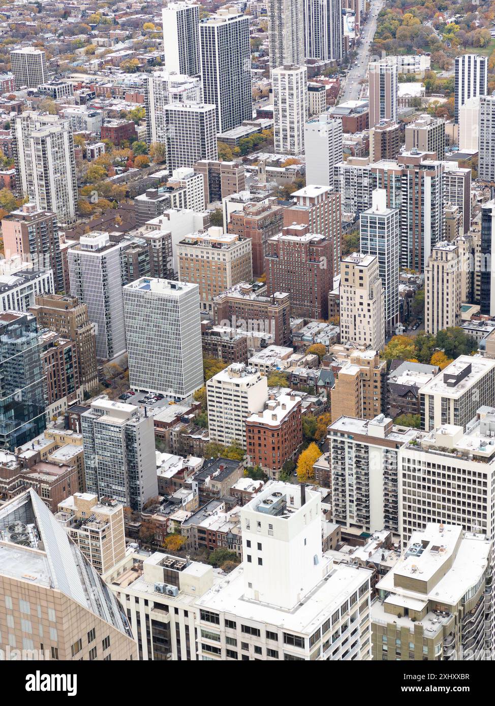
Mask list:
[[[342,120],[329,113],[309,120],[304,126],[306,184],[333,189],[335,164],[342,162]]]

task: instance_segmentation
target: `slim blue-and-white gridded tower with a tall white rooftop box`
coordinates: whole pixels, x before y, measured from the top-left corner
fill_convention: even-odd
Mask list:
[[[388,208],[385,189],[375,189],[371,198],[371,208],[362,211],[359,221],[361,252],[378,257],[385,290],[385,327],[390,335],[399,323],[400,210]]]

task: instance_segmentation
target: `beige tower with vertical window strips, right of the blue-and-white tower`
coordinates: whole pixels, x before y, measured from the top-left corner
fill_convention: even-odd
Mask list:
[[[436,335],[460,325],[462,273],[458,244],[437,243],[424,270],[424,330]]]

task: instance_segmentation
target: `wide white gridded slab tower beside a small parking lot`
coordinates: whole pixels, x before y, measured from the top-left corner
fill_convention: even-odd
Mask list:
[[[188,397],[203,385],[198,285],[141,277],[124,287],[129,384]]]

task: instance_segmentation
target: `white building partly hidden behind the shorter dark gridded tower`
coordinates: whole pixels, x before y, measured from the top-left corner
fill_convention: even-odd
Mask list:
[[[201,102],[201,81],[182,73],[154,71],[144,81],[144,104],[148,144],[167,144],[164,108],[169,103]]]

